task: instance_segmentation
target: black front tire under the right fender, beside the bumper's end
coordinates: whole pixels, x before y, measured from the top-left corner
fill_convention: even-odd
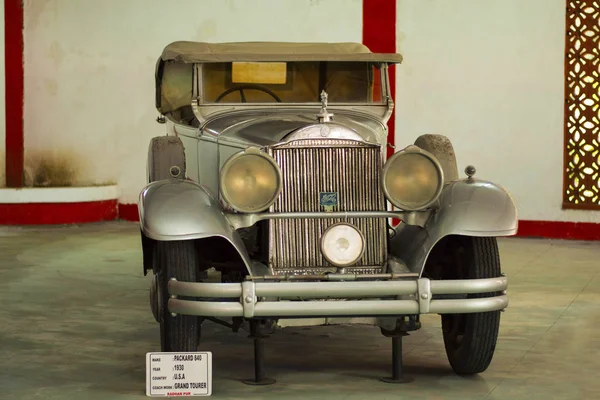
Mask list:
[[[447,251],[453,253],[458,270],[454,279],[493,278],[501,275],[496,238],[460,237]],[[461,267],[462,266],[462,267]],[[469,295],[469,298],[491,297],[496,293]],[[442,315],[442,332],[448,361],[459,375],[485,371],[492,361],[500,311],[473,314]]]

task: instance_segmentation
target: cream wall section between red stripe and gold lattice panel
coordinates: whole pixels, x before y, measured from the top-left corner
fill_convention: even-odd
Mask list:
[[[562,210],[564,0],[398,0],[396,143],[449,136],[459,171],[501,183],[524,220]]]

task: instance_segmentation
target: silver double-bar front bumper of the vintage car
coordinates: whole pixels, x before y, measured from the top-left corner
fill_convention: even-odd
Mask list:
[[[505,276],[370,282],[191,283],[171,279],[168,307],[174,314],[245,318],[477,313],[505,309],[508,306],[507,286]],[[481,298],[433,298],[435,295],[490,292],[501,294]],[[184,300],[177,296],[202,299]],[[293,298],[310,300],[288,301]],[[343,298],[344,301],[323,301],[328,298]]]

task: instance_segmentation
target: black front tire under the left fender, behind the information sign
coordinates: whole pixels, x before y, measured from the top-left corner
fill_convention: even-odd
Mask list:
[[[177,352],[196,351],[200,342],[200,319],[190,315],[172,316],[167,307],[170,297],[167,284],[171,278],[184,282],[197,281],[199,257],[194,242],[157,242],[155,251],[159,266],[161,349]]]

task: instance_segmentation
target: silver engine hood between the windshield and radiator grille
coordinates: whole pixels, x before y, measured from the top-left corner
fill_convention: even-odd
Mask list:
[[[384,125],[372,118],[335,113],[332,122],[351,129],[366,142],[385,143]],[[219,143],[262,147],[279,143],[290,133],[318,123],[314,112],[230,114],[209,121],[203,133],[216,136]]]

